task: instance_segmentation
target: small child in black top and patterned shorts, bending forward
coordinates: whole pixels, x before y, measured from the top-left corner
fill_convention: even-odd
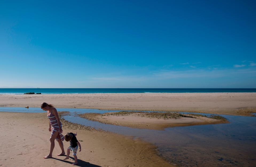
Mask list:
[[[67,152],[67,157],[64,159],[64,160],[67,160],[69,159],[69,154],[70,154],[70,149],[72,150],[73,152],[73,156],[74,156],[74,159],[75,159],[75,162],[72,164],[72,165],[77,165],[77,156],[76,156],[76,152],[77,152],[77,149],[78,149],[78,146],[80,148],[79,152],[81,151],[81,145],[80,143],[77,141],[76,139],[76,134],[73,134],[73,133],[66,133],[64,138],[65,140],[68,142],[70,142],[70,146],[68,148],[68,152]]]

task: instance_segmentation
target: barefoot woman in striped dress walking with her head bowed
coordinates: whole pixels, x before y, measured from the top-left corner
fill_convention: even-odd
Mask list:
[[[43,102],[41,104],[41,109],[47,111],[47,117],[49,118],[49,131],[52,131],[51,137],[50,137],[50,142],[51,142],[51,147],[50,147],[50,153],[49,155],[45,156],[44,159],[51,158],[52,157],[52,152],[54,148],[54,139],[56,139],[60,145],[61,148],[61,153],[58,156],[65,155],[65,151],[63,148],[63,140],[64,136],[61,134],[62,133],[62,124],[60,122],[58,112],[56,108],[54,108],[53,105],[47,104],[46,102]]]

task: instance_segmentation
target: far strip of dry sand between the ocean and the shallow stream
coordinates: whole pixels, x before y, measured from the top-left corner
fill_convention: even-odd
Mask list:
[[[104,110],[183,111],[251,115],[256,112],[256,93],[85,93],[52,95],[0,95],[0,106]]]

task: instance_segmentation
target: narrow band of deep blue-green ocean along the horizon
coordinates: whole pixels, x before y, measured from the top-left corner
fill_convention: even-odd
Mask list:
[[[68,93],[217,93],[217,92],[256,92],[246,88],[0,88],[0,94],[42,94]]]

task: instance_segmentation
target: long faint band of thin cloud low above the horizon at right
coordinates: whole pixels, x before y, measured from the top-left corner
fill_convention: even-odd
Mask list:
[[[113,87],[113,85],[123,85],[123,87],[127,86],[136,86],[138,83],[148,83],[148,82],[159,82],[161,80],[171,80],[171,79],[190,79],[190,78],[223,78],[230,76],[245,76],[248,75],[250,77],[256,76],[256,69],[254,67],[251,68],[229,68],[229,69],[214,69],[214,70],[206,70],[206,69],[197,69],[192,68],[191,70],[185,71],[174,71],[174,70],[158,70],[150,73],[150,75],[142,76],[142,75],[129,75],[129,76],[99,76],[88,78],[86,81],[81,81],[79,83],[84,83],[88,85],[94,85],[94,87],[107,85],[109,87]]]

